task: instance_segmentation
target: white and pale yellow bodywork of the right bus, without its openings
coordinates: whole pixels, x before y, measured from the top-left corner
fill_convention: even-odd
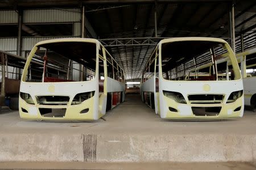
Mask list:
[[[216,41],[224,43],[228,52],[231,53],[230,59],[234,62],[234,66],[237,70],[239,70],[238,63],[236,61],[236,57],[228,43],[222,39],[215,39],[215,38],[207,38],[207,37],[184,37],[184,38],[173,38],[173,39],[164,39],[159,42],[158,46],[156,47],[159,51],[158,59],[159,59],[159,77],[156,78],[155,75],[151,76],[150,79],[146,80],[146,82],[142,81],[141,84],[141,95],[142,100],[144,100],[143,92],[150,92],[154,94],[154,108],[155,113],[160,114],[161,118],[167,119],[220,119],[220,118],[235,118],[235,117],[242,117],[243,116],[243,95],[238,98],[233,103],[226,103],[228,97],[234,91],[241,91],[243,90],[243,82],[241,78],[241,74],[238,71],[237,75],[240,75],[240,78],[237,80],[205,80],[205,81],[188,81],[188,80],[166,80],[163,78],[162,75],[162,44],[166,42],[176,42],[176,41]],[[186,46],[184,49],[186,50]],[[155,61],[156,63],[156,61]],[[155,67],[156,70],[156,67]],[[156,73],[156,71],[155,71]],[[157,82],[158,80],[158,87]],[[156,89],[158,88],[159,91]],[[170,99],[167,96],[164,96],[163,91],[173,91],[179,92],[184,96],[186,104],[177,103],[175,100]],[[188,100],[189,95],[224,95],[224,99],[221,103],[206,103],[204,104],[195,104],[191,103]],[[151,100],[152,104],[152,100]],[[149,104],[148,104],[149,105]],[[176,109],[176,112],[170,111],[169,108]],[[213,116],[196,116],[193,114],[192,107],[221,107],[220,113],[213,115]],[[234,111],[236,108],[240,108],[239,111]]]

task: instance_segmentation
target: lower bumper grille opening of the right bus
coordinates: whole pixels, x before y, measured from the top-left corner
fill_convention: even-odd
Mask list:
[[[218,116],[221,107],[192,107],[195,116]]]

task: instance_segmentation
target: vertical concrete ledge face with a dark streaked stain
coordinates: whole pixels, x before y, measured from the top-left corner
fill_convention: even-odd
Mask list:
[[[255,162],[255,135],[1,134],[0,161]]]

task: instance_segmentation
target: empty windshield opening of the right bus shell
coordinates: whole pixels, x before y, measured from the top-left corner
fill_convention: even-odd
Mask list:
[[[177,41],[162,44],[162,74],[167,80],[234,80],[239,71],[224,43]],[[234,56],[233,56],[234,57]],[[238,68],[238,67],[237,67]]]

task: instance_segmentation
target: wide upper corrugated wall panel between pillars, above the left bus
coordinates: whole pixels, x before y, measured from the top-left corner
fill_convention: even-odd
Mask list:
[[[80,20],[79,8],[23,11],[23,23],[80,22]]]

